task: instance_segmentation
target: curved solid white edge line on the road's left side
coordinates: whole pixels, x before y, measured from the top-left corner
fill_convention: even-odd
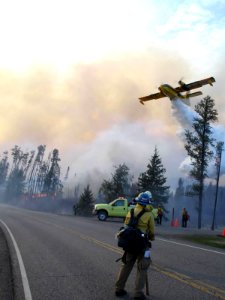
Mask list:
[[[20,273],[21,273],[21,277],[22,277],[22,282],[23,282],[23,290],[24,290],[24,296],[25,296],[25,300],[32,300],[32,295],[31,295],[31,291],[30,291],[30,286],[29,286],[29,282],[28,282],[28,278],[27,278],[27,273],[25,270],[25,266],[23,263],[23,259],[22,256],[20,254],[20,250],[18,248],[18,245],[16,243],[16,240],[14,239],[14,236],[11,232],[11,230],[9,229],[9,227],[5,224],[4,221],[0,220],[0,222],[5,226],[5,228],[7,229],[12,242],[13,242],[13,246],[16,250],[16,255],[18,258],[18,262],[19,262],[19,267],[20,267]]]

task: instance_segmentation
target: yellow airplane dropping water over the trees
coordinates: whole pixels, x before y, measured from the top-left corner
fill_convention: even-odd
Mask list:
[[[169,97],[170,100],[174,100],[176,98],[180,98],[183,100],[188,100],[190,97],[196,97],[196,96],[200,96],[202,95],[201,91],[198,92],[194,92],[194,93],[190,93],[190,91],[192,89],[197,89],[199,87],[202,87],[203,85],[206,84],[210,84],[213,85],[213,82],[215,82],[215,78],[214,77],[209,77],[206,79],[202,79],[199,81],[195,81],[192,83],[184,83],[183,81],[178,81],[179,85],[176,88],[173,88],[172,86],[170,86],[169,84],[162,84],[160,85],[159,89],[159,93],[156,94],[151,94],[149,96],[145,96],[145,97],[141,97],[139,98],[140,103],[144,105],[145,101],[149,101],[149,100],[156,100],[159,98],[163,98],[163,97]],[[182,92],[186,92],[185,95],[182,95]]]

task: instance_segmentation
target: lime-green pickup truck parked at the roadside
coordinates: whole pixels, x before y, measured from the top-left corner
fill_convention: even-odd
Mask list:
[[[125,218],[128,211],[135,205],[129,205],[126,198],[117,198],[110,203],[95,204],[93,214],[98,216],[99,221],[110,218]],[[157,209],[153,209],[153,215],[157,218]]]

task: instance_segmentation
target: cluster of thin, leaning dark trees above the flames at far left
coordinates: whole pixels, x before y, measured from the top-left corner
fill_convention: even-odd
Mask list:
[[[0,160],[0,185],[4,187],[3,198],[12,202],[22,198],[60,197],[62,182],[60,180],[59,151],[54,149],[44,159],[45,145],[35,151],[24,152],[15,145],[9,152],[5,151]],[[11,160],[11,165],[10,165]]]

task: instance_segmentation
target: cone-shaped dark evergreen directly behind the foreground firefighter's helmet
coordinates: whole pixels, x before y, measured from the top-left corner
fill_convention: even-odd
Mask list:
[[[157,147],[151,157],[147,170],[140,174],[138,178],[138,187],[140,191],[149,190],[152,193],[153,200],[164,208],[168,202],[170,187],[165,185],[167,178],[164,176],[166,169],[163,167],[162,160],[158,154]],[[164,208],[165,209],[165,208]]]

